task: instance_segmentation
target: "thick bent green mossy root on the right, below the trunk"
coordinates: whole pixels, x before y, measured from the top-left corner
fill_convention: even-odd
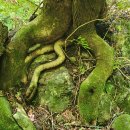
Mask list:
[[[83,34],[92,49],[97,63],[95,69],[80,85],[78,107],[85,122],[98,117],[98,107],[106,80],[113,71],[113,49],[96,33]]]

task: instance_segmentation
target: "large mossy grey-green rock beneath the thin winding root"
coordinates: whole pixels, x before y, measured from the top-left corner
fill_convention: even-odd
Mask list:
[[[71,102],[74,85],[65,67],[43,74],[39,80],[38,103],[53,112],[61,112]]]

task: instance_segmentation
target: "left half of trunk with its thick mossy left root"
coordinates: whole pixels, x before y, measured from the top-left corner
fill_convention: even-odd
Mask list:
[[[31,45],[49,44],[63,37],[70,26],[70,16],[70,0],[44,1],[41,14],[34,21],[22,27],[6,48],[0,77],[2,89],[14,87],[20,83],[26,71],[24,60]]]

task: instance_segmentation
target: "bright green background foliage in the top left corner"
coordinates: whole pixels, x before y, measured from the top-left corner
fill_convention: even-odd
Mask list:
[[[40,0],[0,0],[0,21],[9,30],[26,24]]]

